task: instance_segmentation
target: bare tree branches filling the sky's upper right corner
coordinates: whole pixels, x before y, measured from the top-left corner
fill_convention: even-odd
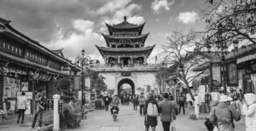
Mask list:
[[[201,32],[206,43],[201,45],[224,43],[227,48],[244,40],[256,43],[256,0],[207,0],[201,19],[207,23],[207,30]]]

